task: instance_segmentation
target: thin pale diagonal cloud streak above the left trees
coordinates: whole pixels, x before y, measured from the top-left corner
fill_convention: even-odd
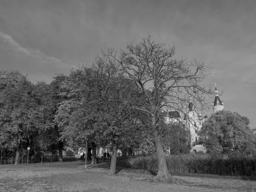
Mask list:
[[[22,52],[26,54],[29,57],[36,58],[42,63],[45,64],[55,64],[58,67],[64,67],[64,68],[70,68],[71,66],[69,64],[63,63],[60,59],[47,56],[44,53],[42,53],[39,50],[32,50],[32,49],[26,49],[22,47],[20,44],[18,44],[10,35],[7,35],[3,32],[0,32],[0,39],[3,40],[3,42],[6,44],[9,44],[9,46],[14,49],[17,52]],[[72,65],[72,67],[77,68]]]

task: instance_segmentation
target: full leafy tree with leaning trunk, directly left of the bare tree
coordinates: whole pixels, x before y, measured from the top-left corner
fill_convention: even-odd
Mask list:
[[[125,79],[106,58],[97,57],[92,67],[71,72],[63,87],[69,98],[58,110],[58,119],[67,119],[59,122],[68,122],[63,136],[69,140],[79,138],[82,143],[90,140],[101,146],[110,144],[110,173],[115,174],[117,148],[125,150],[132,145],[132,130],[138,126],[131,108],[131,103],[138,100],[133,82]]]

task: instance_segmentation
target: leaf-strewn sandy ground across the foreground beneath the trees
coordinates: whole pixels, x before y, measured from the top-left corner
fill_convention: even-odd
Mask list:
[[[153,181],[154,172],[82,162],[0,166],[0,192],[256,192],[250,177],[219,175],[172,176],[171,183]],[[251,180],[250,180],[251,179]]]

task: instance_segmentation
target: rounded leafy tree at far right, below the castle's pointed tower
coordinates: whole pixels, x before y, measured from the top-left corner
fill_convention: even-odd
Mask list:
[[[249,146],[255,148],[255,138],[247,117],[237,112],[218,111],[202,125],[199,135],[206,138],[208,152],[230,150],[244,151]]]

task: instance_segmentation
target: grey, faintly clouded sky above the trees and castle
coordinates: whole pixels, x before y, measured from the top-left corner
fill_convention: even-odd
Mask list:
[[[32,82],[148,35],[175,44],[176,57],[211,64],[204,84],[216,83],[224,108],[256,128],[255,0],[0,0],[0,70]]]

